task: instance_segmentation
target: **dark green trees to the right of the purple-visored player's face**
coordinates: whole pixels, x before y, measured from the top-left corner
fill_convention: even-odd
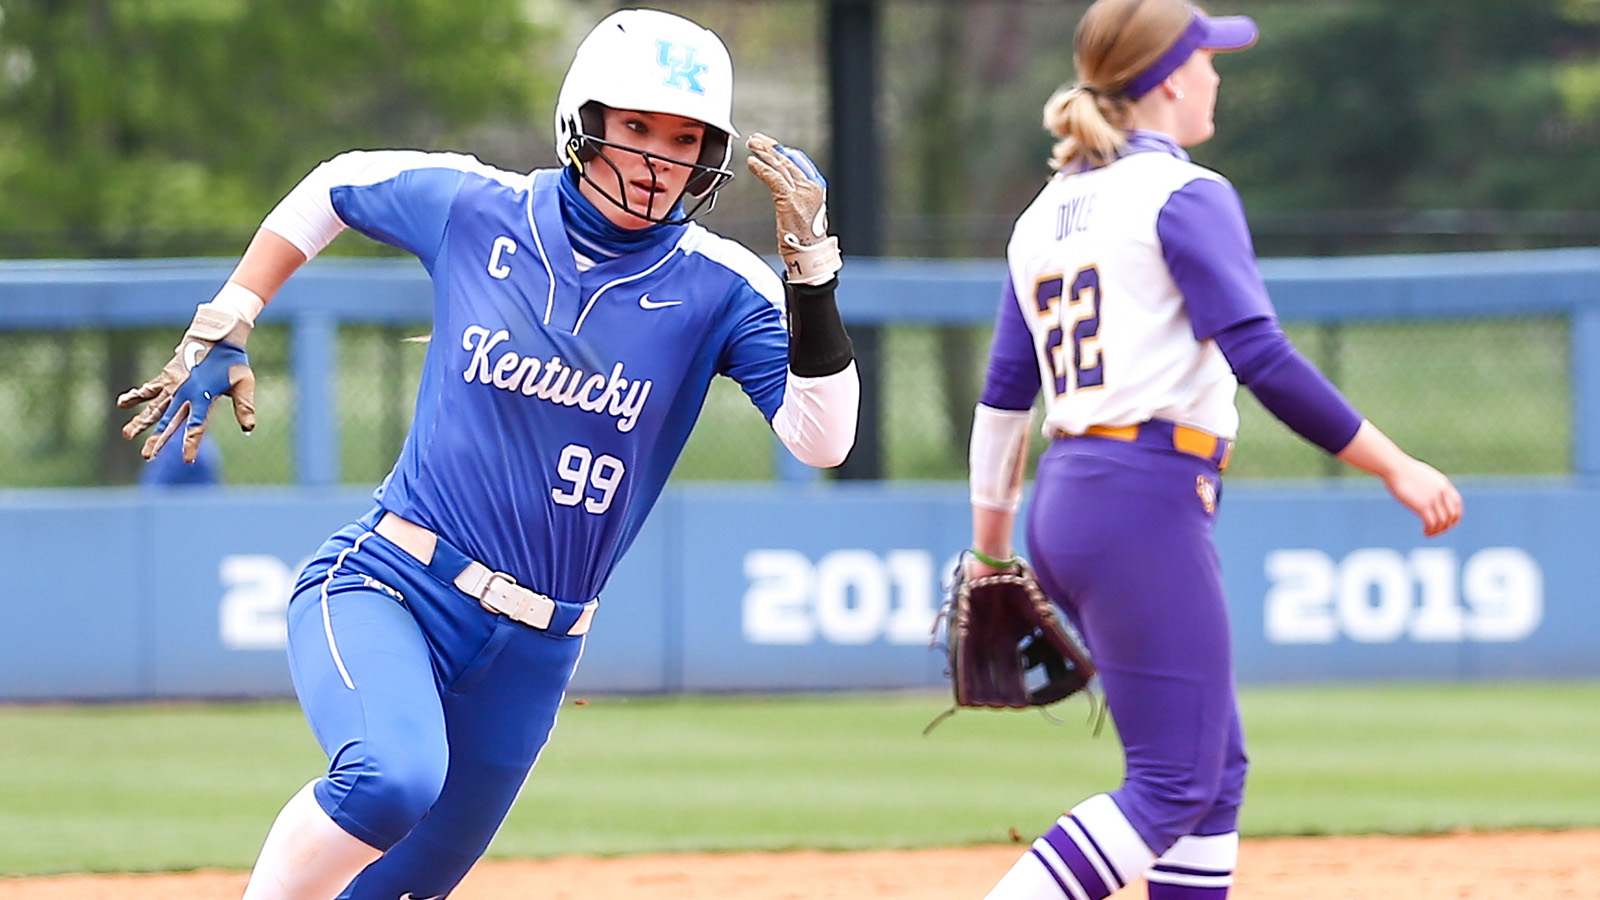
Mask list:
[[[1477,210],[1491,213],[1480,231],[1506,232],[1526,221],[1507,213],[1600,210],[1600,2],[1346,0],[1256,14],[1261,43],[1219,61],[1218,138],[1197,151],[1251,213]],[[1357,250],[1370,248],[1342,251]]]

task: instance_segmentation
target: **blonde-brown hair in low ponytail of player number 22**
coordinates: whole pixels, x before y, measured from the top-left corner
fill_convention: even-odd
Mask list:
[[[1094,168],[1128,143],[1123,93],[1184,34],[1195,6],[1187,0],[1096,0],[1078,21],[1072,61],[1078,83],[1045,102],[1045,130],[1058,138],[1050,165]]]

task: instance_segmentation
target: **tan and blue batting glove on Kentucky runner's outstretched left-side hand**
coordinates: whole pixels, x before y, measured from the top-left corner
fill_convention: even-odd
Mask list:
[[[149,402],[122,428],[126,439],[155,424],[139,455],[154,460],[162,447],[184,429],[184,461],[200,455],[211,404],[227,394],[234,400],[238,428],[256,428],[256,373],[250,368],[245,343],[254,317],[264,303],[250,290],[227,283],[214,299],[200,304],[195,317],[178,341],[173,359],[144,384],[117,397],[117,408],[126,410]]]

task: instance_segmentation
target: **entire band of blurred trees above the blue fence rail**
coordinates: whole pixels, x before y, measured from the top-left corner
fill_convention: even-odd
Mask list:
[[[998,255],[1048,175],[1038,107],[1072,78],[1086,3],[882,2],[888,245]],[[347,147],[549,165],[557,29],[616,5],[0,0],[0,256],[232,255]],[[726,32],[752,120],[816,115],[797,106],[814,91],[797,94],[794,54],[771,48],[808,48],[821,78],[821,0],[656,5]],[[1262,38],[1219,61],[1219,133],[1195,157],[1240,187],[1266,255],[1600,240],[1600,0],[1213,6],[1256,16]],[[741,187],[712,224],[765,239],[765,200],[741,205]],[[1442,215],[1438,234],[1482,240],[1390,227]]]

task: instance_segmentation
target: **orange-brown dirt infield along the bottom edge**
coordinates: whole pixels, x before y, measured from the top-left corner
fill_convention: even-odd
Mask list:
[[[1021,846],[683,854],[480,865],[453,900],[978,900]],[[245,874],[0,879],[0,900],[235,900]],[[1142,898],[1141,887],[1122,895]],[[1600,897],[1600,831],[1245,841],[1235,900]]]

